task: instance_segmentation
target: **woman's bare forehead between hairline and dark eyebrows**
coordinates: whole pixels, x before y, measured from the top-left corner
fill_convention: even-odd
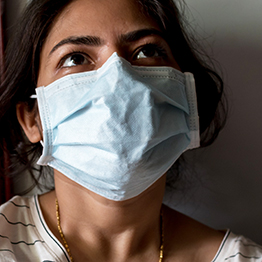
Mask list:
[[[66,37],[85,34],[110,41],[143,27],[158,29],[137,0],[76,0],[55,19],[46,43],[55,45]]]

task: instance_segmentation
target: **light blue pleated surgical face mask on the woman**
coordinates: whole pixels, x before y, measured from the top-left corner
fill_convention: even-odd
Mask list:
[[[111,200],[139,195],[199,146],[190,73],[132,66],[114,53],[100,69],[36,94],[44,140],[38,164]]]

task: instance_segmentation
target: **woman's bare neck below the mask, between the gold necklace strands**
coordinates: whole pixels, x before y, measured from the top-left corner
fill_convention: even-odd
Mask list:
[[[126,201],[105,199],[58,172],[55,184],[61,227],[73,257],[82,252],[88,261],[158,261],[165,176]]]

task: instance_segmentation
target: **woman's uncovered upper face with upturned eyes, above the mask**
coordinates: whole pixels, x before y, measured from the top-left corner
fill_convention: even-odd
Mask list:
[[[77,0],[57,17],[40,55],[38,86],[96,70],[114,53],[133,65],[179,69],[156,22],[135,0]]]

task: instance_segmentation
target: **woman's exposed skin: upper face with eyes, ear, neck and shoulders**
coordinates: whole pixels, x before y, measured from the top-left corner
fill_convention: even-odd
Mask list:
[[[85,43],[75,41],[79,38]],[[77,0],[57,17],[43,45],[38,86],[98,69],[114,52],[134,65],[179,69],[159,27],[140,13],[134,1]],[[22,104],[17,106],[17,116],[29,140],[40,141],[39,116]],[[56,226],[57,197],[74,261],[158,261],[165,175],[139,196],[120,202],[81,187],[57,170],[54,177],[55,191],[40,196],[39,201],[47,225],[62,242]],[[165,206],[163,215],[165,262],[213,259],[223,233]]]

